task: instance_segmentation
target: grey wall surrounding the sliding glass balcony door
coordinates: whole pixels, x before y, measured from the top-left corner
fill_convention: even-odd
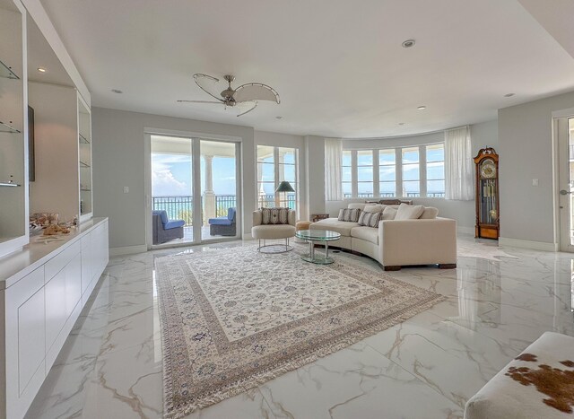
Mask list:
[[[184,118],[92,108],[94,216],[109,217],[109,247],[145,245],[145,128],[241,138],[243,232],[255,209],[254,130]],[[129,187],[124,194],[123,188]]]

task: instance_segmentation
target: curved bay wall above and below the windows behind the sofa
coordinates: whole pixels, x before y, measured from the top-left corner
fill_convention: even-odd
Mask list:
[[[473,157],[478,151],[491,146],[497,150],[498,124],[497,121],[488,121],[471,126],[471,138],[473,145]],[[412,135],[392,138],[364,139],[364,140],[344,140],[345,149],[375,149],[385,147],[432,144],[444,141],[444,133],[431,133],[424,135]],[[326,213],[336,216],[340,208],[344,208],[349,202],[364,202],[365,199],[347,199],[344,201],[328,201]],[[459,231],[474,233],[475,205],[473,201],[450,201],[443,198],[413,198],[413,203],[417,205],[435,206],[439,208],[439,215],[457,220]]]

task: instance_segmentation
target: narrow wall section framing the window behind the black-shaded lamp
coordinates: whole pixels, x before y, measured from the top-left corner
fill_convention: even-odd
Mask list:
[[[273,145],[274,147],[290,147],[299,150],[299,217],[307,220],[309,218],[309,202],[307,199],[307,176],[305,170],[306,149],[305,138],[300,135],[278,134],[266,131],[255,132],[256,153],[257,145]],[[256,155],[257,161],[257,155]],[[257,168],[256,168],[257,170]],[[256,172],[257,176],[257,172]],[[256,191],[257,193],[257,191]]]

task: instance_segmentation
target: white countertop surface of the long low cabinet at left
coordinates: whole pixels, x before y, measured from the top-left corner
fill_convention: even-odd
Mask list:
[[[62,250],[79,240],[85,233],[107,220],[107,217],[91,218],[91,220],[71,229],[70,234],[60,236],[63,240],[46,243],[38,240],[42,236],[30,236],[30,244],[4,256],[4,258],[0,258],[0,290],[16,284],[23,276],[30,274],[31,271],[42,266],[50,258],[54,258]]]

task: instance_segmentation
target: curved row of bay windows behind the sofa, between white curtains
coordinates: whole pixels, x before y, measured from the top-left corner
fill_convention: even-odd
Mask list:
[[[350,197],[444,197],[444,143],[344,150],[342,184]]]

